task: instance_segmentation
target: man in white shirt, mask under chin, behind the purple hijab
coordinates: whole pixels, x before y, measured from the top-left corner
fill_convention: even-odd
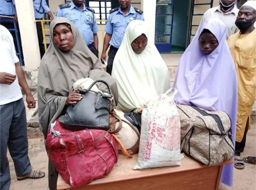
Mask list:
[[[210,8],[204,13],[196,35],[198,35],[200,27],[206,20],[218,18],[226,25],[226,40],[228,40],[231,35],[239,31],[235,25],[238,11],[239,9],[236,8],[236,0],[220,0],[219,6]]]

